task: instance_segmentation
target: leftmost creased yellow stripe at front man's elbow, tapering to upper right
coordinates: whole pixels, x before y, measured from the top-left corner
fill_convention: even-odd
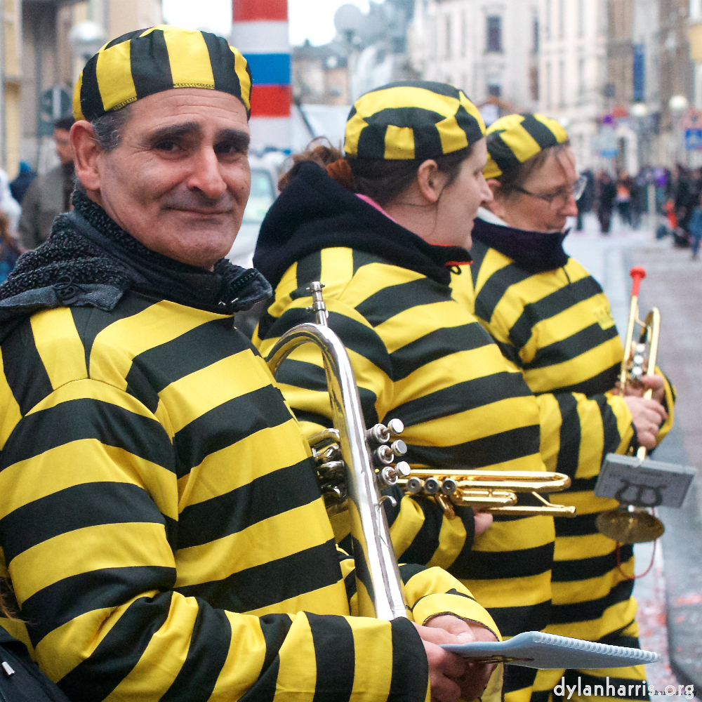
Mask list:
[[[54,682],[68,675],[79,663],[90,658],[119,618],[140,597],[155,597],[158,590],[140,592],[119,607],[93,609],[49,632],[38,644],[37,663]],[[60,651],[60,654],[58,652]]]

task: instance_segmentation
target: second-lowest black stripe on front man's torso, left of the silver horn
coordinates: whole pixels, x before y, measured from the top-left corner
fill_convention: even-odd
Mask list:
[[[246,467],[234,466],[234,470]],[[178,519],[178,548],[216,541],[319,499],[312,460],[262,475],[224,495],[188,505]]]

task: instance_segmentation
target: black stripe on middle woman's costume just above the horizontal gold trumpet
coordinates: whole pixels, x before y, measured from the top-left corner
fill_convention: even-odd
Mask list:
[[[538,453],[538,425],[519,427],[454,446],[408,446],[408,463],[451,468],[484,468]]]

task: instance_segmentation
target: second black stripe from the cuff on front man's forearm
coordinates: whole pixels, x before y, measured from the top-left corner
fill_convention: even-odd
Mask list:
[[[344,702],[351,698],[355,646],[351,625],[343,616],[307,614],[312,631],[317,684],[312,702]]]

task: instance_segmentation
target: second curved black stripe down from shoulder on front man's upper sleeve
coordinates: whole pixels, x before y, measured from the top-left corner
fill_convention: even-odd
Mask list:
[[[5,562],[60,534],[98,524],[164,524],[147,491],[138,485],[92,482],[60,490],[0,519]]]

